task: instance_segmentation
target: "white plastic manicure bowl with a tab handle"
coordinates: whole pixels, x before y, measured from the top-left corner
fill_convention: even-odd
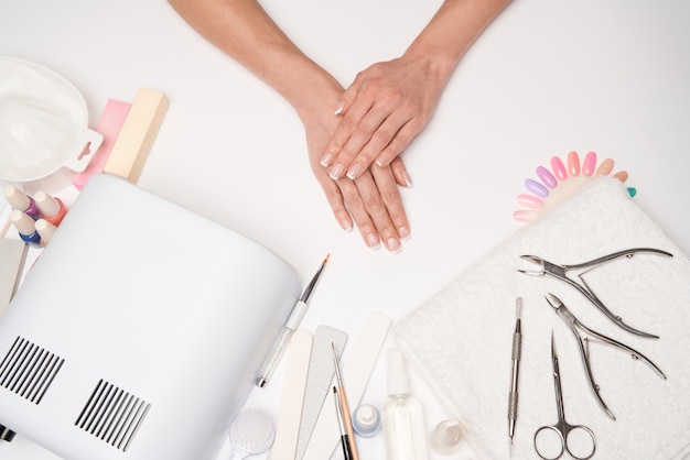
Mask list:
[[[41,65],[0,57],[0,179],[32,182],[86,168],[103,143],[82,94]]]

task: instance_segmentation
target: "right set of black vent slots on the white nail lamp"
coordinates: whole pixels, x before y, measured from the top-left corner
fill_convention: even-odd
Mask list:
[[[126,452],[150,408],[151,404],[101,379],[74,425]]]

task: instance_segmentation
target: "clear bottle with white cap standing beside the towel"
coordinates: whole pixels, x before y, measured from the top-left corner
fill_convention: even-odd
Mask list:
[[[410,394],[405,357],[389,349],[388,398],[384,403],[384,431],[387,460],[427,460],[427,431],[422,405]]]

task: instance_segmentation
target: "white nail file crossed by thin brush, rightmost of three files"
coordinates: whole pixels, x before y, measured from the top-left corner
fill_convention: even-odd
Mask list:
[[[351,407],[357,407],[362,401],[386,341],[388,329],[390,329],[390,319],[380,314],[373,314],[364,331],[347,353],[347,362],[343,366],[342,376]],[[321,410],[303,460],[330,459],[337,450],[338,445],[339,435],[335,405],[326,404]],[[342,452],[339,454],[342,456]]]

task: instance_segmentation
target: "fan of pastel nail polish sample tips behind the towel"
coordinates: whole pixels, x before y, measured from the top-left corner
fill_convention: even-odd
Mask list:
[[[578,152],[574,151],[568,154],[565,162],[553,156],[550,166],[550,169],[546,166],[537,167],[537,179],[525,180],[525,188],[529,193],[517,196],[518,204],[524,208],[513,213],[515,220],[520,222],[538,220],[593,177],[612,176],[621,182],[627,180],[628,177],[625,171],[612,174],[614,161],[611,158],[604,160],[597,166],[595,152],[587,152],[582,162]],[[627,191],[630,197],[637,193],[633,187],[628,187]]]

